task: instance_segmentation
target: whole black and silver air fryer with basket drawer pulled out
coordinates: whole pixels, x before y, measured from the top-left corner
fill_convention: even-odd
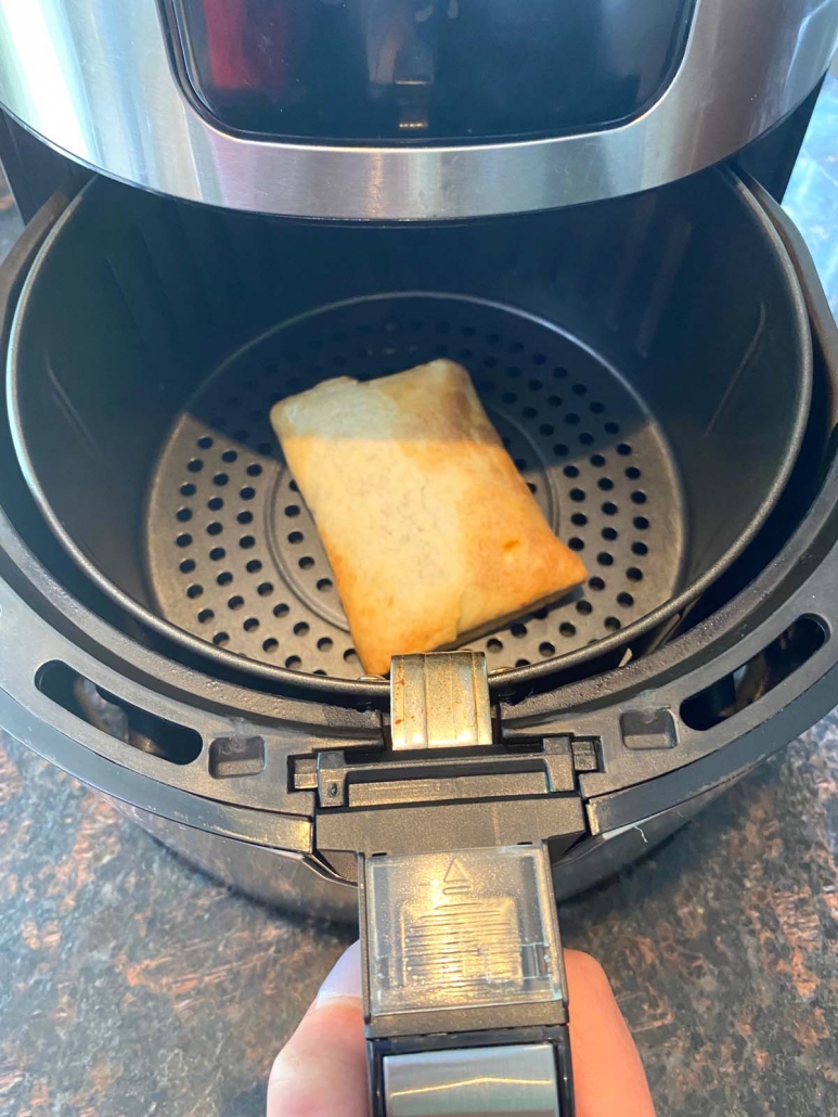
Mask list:
[[[570,1114],[552,892],[836,700],[838,347],[775,198],[838,3],[30,9],[0,0],[3,725],[254,896],[355,918],[361,886],[377,1111],[514,1043]],[[267,417],[435,356],[589,579],[391,686]],[[431,879],[514,897],[514,989],[422,1001]]]

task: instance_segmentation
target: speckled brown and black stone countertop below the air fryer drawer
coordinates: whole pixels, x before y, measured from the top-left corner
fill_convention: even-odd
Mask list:
[[[838,716],[561,922],[611,977],[659,1117],[838,1114]],[[0,1114],[263,1114],[351,937],[213,884],[3,739]]]

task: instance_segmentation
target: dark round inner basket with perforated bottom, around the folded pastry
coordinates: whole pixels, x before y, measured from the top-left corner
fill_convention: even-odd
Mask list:
[[[469,369],[590,572],[581,593],[473,645],[493,668],[661,624],[753,537],[807,417],[791,266],[718,171],[582,210],[387,228],[94,182],[23,292],[10,413],[51,526],[150,630],[353,678],[267,412],[330,375],[437,355]]]

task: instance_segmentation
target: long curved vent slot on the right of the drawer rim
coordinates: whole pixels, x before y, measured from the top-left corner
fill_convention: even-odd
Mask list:
[[[691,729],[712,729],[764,698],[827,642],[826,623],[801,617],[752,659],[682,703],[680,716]]]

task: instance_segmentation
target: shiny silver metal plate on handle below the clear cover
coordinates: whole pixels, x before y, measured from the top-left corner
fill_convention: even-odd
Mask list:
[[[390,1056],[384,1095],[388,1117],[560,1117],[549,1043]]]

